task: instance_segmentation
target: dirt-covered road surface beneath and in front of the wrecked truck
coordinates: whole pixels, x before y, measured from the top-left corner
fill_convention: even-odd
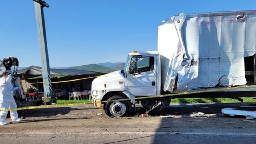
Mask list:
[[[255,103],[172,104],[149,117],[134,116],[145,112],[140,106],[119,118],[93,105],[18,111],[22,121],[0,126],[0,143],[255,143],[256,123],[221,114],[241,105]]]

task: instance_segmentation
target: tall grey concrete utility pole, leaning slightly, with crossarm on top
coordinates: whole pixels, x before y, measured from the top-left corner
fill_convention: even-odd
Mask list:
[[[43,14],[43,7],[49,7],[49,5],[42,0],[33,1],[35,3],[35,17],[37,19],[37,33],[42,63],[42,76],[43,82],[46,82],[43,84],[43,90],[45,96],[52,96],[51,84],[48,83],[51,82],[51,75],[46,41],[45,17]]]

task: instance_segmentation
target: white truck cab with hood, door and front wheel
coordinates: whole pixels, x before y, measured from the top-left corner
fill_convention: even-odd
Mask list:
[[[157,51],[133,51],[128,54],[123,70],[108,73],[93,80],[93,102],[98,107],[103,103],[104,110],[109,116],[129,115],[131,105],[135,106],[135,100],[105,101],[160,95],[160,83],[160,54]]]

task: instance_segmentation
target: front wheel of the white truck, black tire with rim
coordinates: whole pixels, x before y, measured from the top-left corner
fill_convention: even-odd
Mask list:
[[[115,95],[109,98],[107,101],[112,101],[117,99],[125,99],[125,97],[121,95]],[[131,103],[129,101],[107,102],[104,104],[103,108],[105,113],[108,116],[115,116],[115,117],[129,115],[132,110]]]

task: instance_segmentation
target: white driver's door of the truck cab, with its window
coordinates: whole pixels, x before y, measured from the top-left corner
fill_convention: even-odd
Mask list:
[[[154,56],[133,56],[127,74],[127,90],[134,96],[156,95]]]

